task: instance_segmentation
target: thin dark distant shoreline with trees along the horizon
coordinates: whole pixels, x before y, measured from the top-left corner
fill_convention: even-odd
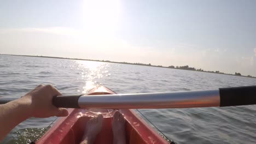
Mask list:
[[[120,63],[120,64],[131,64],[131,65],[142,65],[142,66],[148,66],[148,67],[159,67],[159,68],[168,68],[168,69],[181,69],[181,70],[190,70],[190,71],[201,71],[201,72],[205,72],[205,73],[213,73],[213,74],[223,74],[223,75],[234,75],[234,76],[242,76],[242,77],[249,77],[249,78],[256,78],[254,76],[245,76],[245,75],[241,75],[240,73],[236,73],[236,74],[240,74],[240,75],[235,75],[235,74],[225,74],[225,73],[220,73],[219,71],[205,71],[205,70],[201,70],[201,69],[195,69],[195,68],[190,68],[188,67],[188,65],[186,66],[182,66],[182,67],[178,67],[176,66],[176,68],[172,65],[169,67],[164,67],[162,65],[151,65],[149,64],[144,64],[144,63],[128,63],[128,62],[112,62],[112,61],[104,61],[104,60],[94,60],[94,59],[83,59],[83,58],[65,58],[65,57],[50,57],[50,56],[30,56],[30,55],[11,55],[11,54],[0,54],[0,55],[9,55],[9,56],[24,56],[24,57],[42,57],[42,58],[59,58],[59,59],[74,59],[74,60],[82,60],[82,61],[95,61],[95,62],[107,62],[107,63]]]

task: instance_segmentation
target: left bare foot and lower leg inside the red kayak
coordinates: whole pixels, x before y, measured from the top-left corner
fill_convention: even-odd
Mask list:
[[[102,128],[103,116],[100,114],[97,117],[91,118],[87,122],[86,130],[80,144],[93,144],[96,136]]]

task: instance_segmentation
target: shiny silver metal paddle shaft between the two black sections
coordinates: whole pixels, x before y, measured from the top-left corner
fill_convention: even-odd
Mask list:
[[[219,89],[168,93],[82,95],[80,108],[101,109],[168,109],[211,107],[220,105]]]

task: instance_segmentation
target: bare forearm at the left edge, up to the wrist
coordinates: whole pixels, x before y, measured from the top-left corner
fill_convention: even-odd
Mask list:
[[[21,99],[0,105],[0,141],[19,123],[30,117],[29,105]]]

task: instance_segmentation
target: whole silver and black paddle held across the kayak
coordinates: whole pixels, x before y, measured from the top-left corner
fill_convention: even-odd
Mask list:
[[[0,98],[0,104],[16,98]],[[57,107],[101,109],[171,109],[256,104],[256,86],[207,91],[111,95],[68,95],[53,99]]]

